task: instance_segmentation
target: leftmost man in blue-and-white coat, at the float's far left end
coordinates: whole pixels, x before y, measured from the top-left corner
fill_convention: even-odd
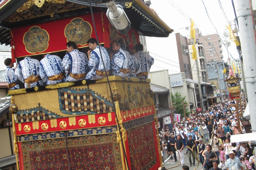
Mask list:
[[[14,64],[12,63],[11,58],[6,58],[4,60],[4,65],[6,65],[6,70],[5,70],[5,79],[8,83],[8,89],[9,90],[14,90],[14,89],[19,89],[19,84],[18,84],[18,77],[14,75]]]

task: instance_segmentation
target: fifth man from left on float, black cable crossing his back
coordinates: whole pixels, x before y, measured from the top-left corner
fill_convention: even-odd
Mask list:
[[[106,68],[106,72],[109,75],[110,71],[110,57],[106,49],[100,45],[98,45],[98,42],[95,38],[90,38],[87,41],[90,50],[88,51],[88,58],[89,58],[89,72],[86,75],[86,79],[92,79],[92,80],[97,80],[101,79],[106,76],[103,63]],[[103,61],[100,56],[100,50],[101,49],[101,54]]]

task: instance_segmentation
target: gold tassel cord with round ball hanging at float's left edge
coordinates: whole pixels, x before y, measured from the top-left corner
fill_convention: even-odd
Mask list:
[[[15,120],[14,116],[15,113],[17,113],[17,105],[14,104],[14,98],[13,96],[11,97],[11,105],[9,107],[9,111],[12,114],[12,121],[13,121],[13,145],[14,145],[14,153],[15,153],[15,158],[16,158],[16,165],[17,165],[17,170],[19,170],[19,161],[18,161],[18,145],[17,145],[17,136],[16,136],[16,130],[15,130]]]

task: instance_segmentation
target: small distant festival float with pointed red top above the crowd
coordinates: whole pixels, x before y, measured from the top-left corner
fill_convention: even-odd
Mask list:
[[[230,99],[235,99],[240,98],[240,81],[241,78],[235,77],[235,74],[229,65],[229,76],[226,80],[223,80],[224,82],[227,81],[227,88],[229,92],[229,98]]]

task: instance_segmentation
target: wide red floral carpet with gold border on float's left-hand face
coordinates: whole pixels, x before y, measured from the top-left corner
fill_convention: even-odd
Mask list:
[[[116,134],[71,137],[21,143],[24,169],[101,169],[121,170],[119,144]]]

